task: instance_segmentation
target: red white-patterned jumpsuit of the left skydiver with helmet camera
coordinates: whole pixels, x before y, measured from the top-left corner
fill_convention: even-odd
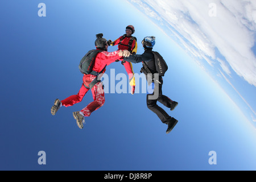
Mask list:
[[[95,58],[95,63],[93,66],[93,71],[100,72],[102,69],[104,69],[105,65],[109,65],[117,59],[121,59],[121,56],[118,56],[119,51],[114,52],[99,52]],[[106,69],[104,70],[104,72]],[[104,73],[103,72],[103,73]],[[102,73],[102,74],[103,74]],[[79,93],[73,96],[69,96],[68,98],[65,98],[61,101],[62,105],[65,107],[72,106],[78,102],[82,101],[82,98],[84,98],[85,94],[88,92],[88,88],[85,88],[84,84],[89,87],[90,82],[92,82],[96,78],[94,75],[84,75],[82,78],[83,84],[79,90]],[[90,102],[84,109],[81,110],[82,113],[84,113],[84,116],[89,116],[94,110],[97,110],[105,103],[105,95],[104,95],[104,89],[101,82],[97,82],[93,86],[92,95],[93,95],[93,102]]]

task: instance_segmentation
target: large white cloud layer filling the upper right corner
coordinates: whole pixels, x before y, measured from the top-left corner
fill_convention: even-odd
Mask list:
[[[131,0],[151,18],[174,30],[182,47],[200,59],[217,59],[217,48],[227,61],[218,61],[249,84],[256,86],[256,58],[251,51],[256,33],[256,1],[224,0]],[[209,4],[216,5],[216,16],[209,16]],[[176,31],[176,32],[175,32]],[[210,65],[212,62],[207,60]]]

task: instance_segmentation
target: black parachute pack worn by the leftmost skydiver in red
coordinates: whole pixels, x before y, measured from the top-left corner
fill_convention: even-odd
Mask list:
[[[94,62],[95,62],[95,59],[96,59],[96,56],[97,56],[97,53],[99,52],[102,52],[103,50],[90,50],[86,53],[86,55],[84,57],[82,57],[81,61],[80,61],[80,64],[79,64],[79,70],[82,74],[85,74],[85,75],[95,75],[95,76],[98,76],[100,75],[104,69],[106,68],[106,65],[105,67],[102,69],[102,71],[100,72],[96,72],[96,71],[93,71],[93,65],[94,65]],[[89,84],[89,88],[92,89],[93,86],[95,84],[97,84],[97,82],[99,82],[99,80],[97,79],[97,77]],[[88,86],[86,86],[84,84],[85,88],[88,88]],[[89,89],[88,88],[88,89]]]

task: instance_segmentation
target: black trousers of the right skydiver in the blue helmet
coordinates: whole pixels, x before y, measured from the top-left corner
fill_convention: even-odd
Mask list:
[[[164,96],[162,94],[162,86],[163,86],[163,79],[160,78],[159,79],[161,84],[155,84],[155,88],[154,88],[154,93],[152,94],[147,94],[147,107],[148,109],[150,109],[151,111],[153,111],[156,115],[158,115],[159,119],[163,122],[166,123],[167,121],[169,121],[172,117],[170,115],[168,115],[166,113],[165,110],[162,109],[162,107],[159,107],[156,103],[160,102],[161,104],[163,104],[164,106],[171,108],[171,104],[172,104],[172,100],[167,97]],[[158,92],[158,97],[152,99],[152,96],[154,94],[156,94],[156,92]]]

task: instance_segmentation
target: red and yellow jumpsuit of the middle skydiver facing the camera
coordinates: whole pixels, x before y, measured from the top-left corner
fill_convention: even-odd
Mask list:
[[[123,39],[123,36],[119,37],[117,40],[115,40],[111,46],[115,46],[118,44],[118,50],[128,50],[131,53],[135,52],[137,53],[137,42],[134,39],[133,43],[131,44],[131,47],[129,49],[129,42],[132,36],[126,36],[124,35],[125,38]],[[120,44],[120,40],[123,39],[121,41]],[[134,72],[133,72],[133,65],[131,63],[129,63],[128,61],[126,61],[125,63],[123,63],[123,65],[125,66],[125,70],[129,76],[129,83],[131,86],[135,86],[135,78],[134,78]]]

